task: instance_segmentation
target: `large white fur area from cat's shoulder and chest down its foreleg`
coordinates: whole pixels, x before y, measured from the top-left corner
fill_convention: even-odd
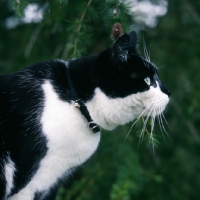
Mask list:
[[[9,200],[31,200],[35,192],[48,190],[58,178],[85,162],[99,144],[100,133],[92,133],[77,108],[60,100],[49,81],[42,88],[45,100],[41,126],[48,151],[32,180]]]

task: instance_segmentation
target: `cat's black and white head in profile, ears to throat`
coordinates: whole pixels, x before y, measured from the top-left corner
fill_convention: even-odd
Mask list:
[[[88,102],[92,118],[113,129],[138,117],[161,115],[170,91],[157,68],[136,50],[136,33],[122,35],[98,56],[99,87]]]

